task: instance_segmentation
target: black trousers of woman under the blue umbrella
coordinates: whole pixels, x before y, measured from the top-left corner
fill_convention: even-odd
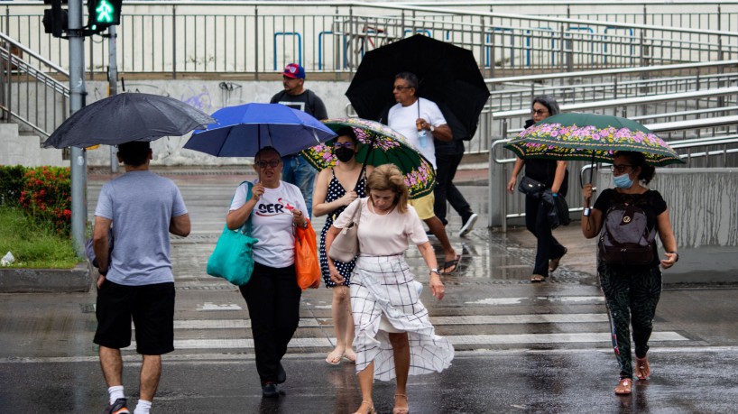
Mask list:
[[[251,317],[256,371],[264,382],[277,382],[277,366],[300,323],[295,266],[273,268],[254,263],[251,280],[240,286]]]

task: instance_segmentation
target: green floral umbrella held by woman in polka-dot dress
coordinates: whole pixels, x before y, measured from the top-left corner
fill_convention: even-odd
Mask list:
[[[405,175],[405,184],[411,198],[430,194],[436,187],[436,171],[407,139],[387,125],[362,118],[335,118],[323,121],[333,131],[350,126],[363,145],[359,146],[356,161],[374,167],[394,164]],[[336,165],[337,158],[331,147],[335,140],[321,143],[300,152],[318,170]]]

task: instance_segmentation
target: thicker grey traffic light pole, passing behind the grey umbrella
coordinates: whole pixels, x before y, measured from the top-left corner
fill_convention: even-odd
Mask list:
[[[85,35],[82,30],[82,0],[69,0],[69,110],[85,106]],[[78,257],[85,256],[85,223],[88,216],[88,161],[86,150],[71,147],[71,235]]]

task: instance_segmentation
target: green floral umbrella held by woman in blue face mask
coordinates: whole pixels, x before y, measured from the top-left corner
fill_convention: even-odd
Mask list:
[[[505,148],[521,158],[612,162],[614,152],[642,152],[646,162],[684,162],[669,144],[645,126],[611,115],[559,114],[522,131]]]

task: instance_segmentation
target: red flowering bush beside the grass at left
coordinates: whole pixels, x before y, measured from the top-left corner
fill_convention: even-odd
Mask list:
[[[72,216],[69,168],[29,169],[19,201],[23,211],[38,225],[48,224],[61,235],[69,235]]]

